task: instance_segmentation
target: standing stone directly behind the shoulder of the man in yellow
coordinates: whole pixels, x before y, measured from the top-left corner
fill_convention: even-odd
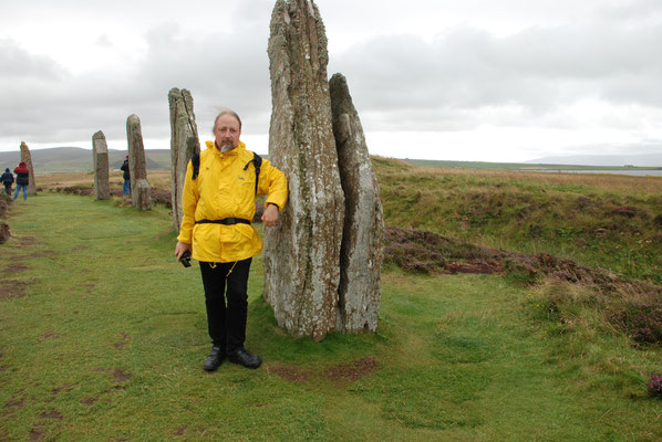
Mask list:
[[[170,168],[173,176],[172,202],[173,227],[182,225],[182,191],[186,180],[186,166],[195,154],[200,151],[198,128],[193,113],[193,96],[186,90],[174,87],[168,93],[170,105]]]

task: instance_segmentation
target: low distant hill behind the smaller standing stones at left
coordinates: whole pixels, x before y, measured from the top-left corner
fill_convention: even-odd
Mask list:
[[[126,150],[108,149],[108,166],[111,170],[120,169]],[[92,149],[80,147],[53,147],[49,149],[32,149],[32,166],[39,173],[55,172],[91,172]],[[13,170],[21,160],[20,151],[0,152],[0,167],[2,171],[9,167]],[[170,150],[169,149],[147,149],[145,150],[145,162],[147,170],[169,170]]]

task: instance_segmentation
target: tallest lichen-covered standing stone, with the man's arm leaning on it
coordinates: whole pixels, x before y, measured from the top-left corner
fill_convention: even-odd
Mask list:
[[[335,330],[344,198],[333,138],[327,36],[310,0],[277,0],[269,38],[271,161],[289,202],[265,229],[265,298],[296,337]]]

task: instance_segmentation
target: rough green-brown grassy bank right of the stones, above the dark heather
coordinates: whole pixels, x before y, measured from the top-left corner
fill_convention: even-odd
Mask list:
[[[375,158],[384,218],[662,283],[662,178],[418,169]]]

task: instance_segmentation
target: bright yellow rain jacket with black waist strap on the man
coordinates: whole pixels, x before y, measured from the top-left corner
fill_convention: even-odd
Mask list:
[[[207,141],[200,151],[200,169],[193,178],[188,161],[182,194],[184,218],[177,241],[193,244],[193,257],[206,262],[234,262],[255,256],[262,251],[262,240],[249,224],[196,224],[199,220],[242,218],[251,221],[255,215],[255,164],[252,152],[239,145],[221,154],[214,141]],[[248,168],[245,167],[246,165]],[[283,172],[262,160],[258,180],[258,194],[267,194],[265,207],[278,206],[281,211],[288,199],[288,183]]]

